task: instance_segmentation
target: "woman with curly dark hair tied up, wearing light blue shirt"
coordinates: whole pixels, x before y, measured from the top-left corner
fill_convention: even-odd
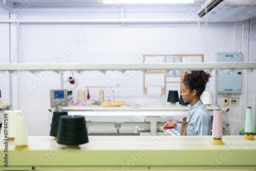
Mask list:
[[[166,122],[164,127],[177,126],[181,135],[210,135],[211,118],[210,114],[200,99],[209,81],[210,74],[204,71],[187,72],[182,81],[182,98],[184,102],[190,103],[187,117],[183,118],[182,124],[178,122]]]

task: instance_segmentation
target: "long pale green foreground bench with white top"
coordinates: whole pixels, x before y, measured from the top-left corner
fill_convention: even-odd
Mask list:
[[[224,145],[210,144],[211,136],[89,136],[81,149],[64,149],[50,136],[28,139],[24,151],[8,142],[9,166],[0,169],[256,169],[256,141],[243,136],[223,136]]]

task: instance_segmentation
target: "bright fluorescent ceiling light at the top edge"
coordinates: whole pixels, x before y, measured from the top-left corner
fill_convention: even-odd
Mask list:
[[[196,0],[99,0],[102,4],[189,4]]]

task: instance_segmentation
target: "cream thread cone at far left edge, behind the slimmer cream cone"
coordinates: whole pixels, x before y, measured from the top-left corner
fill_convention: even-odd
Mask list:
[[[18,116],[22,115],[22,111],[5,111],[4,112],[4,118],[3,121],[5,121],[5,119],[7,119],[7,126],[8,126],[8,135],[7,138],[5,139],[9,139],[10,141],[13,141],[15,136],[16,136],[16,131],[17,131],[17,121],[18,121]],[[1,129],[1,136],[5,137],[6,135],[4,134],[4,127],[5,125],[2,125],[2,129]]]

